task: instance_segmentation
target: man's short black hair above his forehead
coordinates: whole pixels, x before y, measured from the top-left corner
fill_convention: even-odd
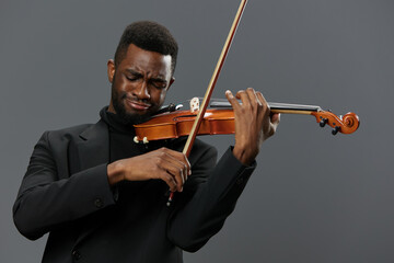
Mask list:
[[[125,28],[116,48],[115,66],[118,66],[125,58],[127,48],[130,44],[148,52],[170,55],[171,73],[174,73],[178,46],[175,38],[165,26],[153,21],[139,21],[129,24]]]

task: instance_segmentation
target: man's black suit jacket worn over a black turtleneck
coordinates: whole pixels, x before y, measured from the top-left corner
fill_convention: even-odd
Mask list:
[[[162,144],[182,150],[184,139]],[[108,185],[103,121],[46,132],[13,207],[15,226],[32,240],[49,232],[43,262],[182,262],[182,250],[197,251],[221,229],[255,167],[231,149],[219,163],[216,155],[195,142],[193,174],[169,208],[160,180]]]

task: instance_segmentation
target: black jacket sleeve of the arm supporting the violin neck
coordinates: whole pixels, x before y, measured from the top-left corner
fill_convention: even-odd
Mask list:
[[[192,194],[184,196],[184,204],[175,208],[169,221],[169,238],[188,252],[200,249],[223,226],[227,217],[234,210],[237,198],[256,167],[243,165],[228,149],[218,164],[216,151],[208,151],[199,163]],[[215,165],[208,169],[207,165]],[[199,165],[197,164],[197,168]],[[207,170],[208,169],[208,170]],[[181,202],[182,203],[182,202]]]

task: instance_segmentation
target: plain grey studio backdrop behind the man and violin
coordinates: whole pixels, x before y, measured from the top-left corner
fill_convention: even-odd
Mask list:
[[[11,207],[46,129],[93,123],[124,27],[166,25],[181,46],[167,102],[202,96],[239,0],[0,2],[0,262],[39,262]],[[254,0],[215,96],[254,87],[268,101],[356,112],[352,135],[282,115],[222,231],[186,262],[394,262],[394,1]],[[207,137],[223,152],[232,136]]]

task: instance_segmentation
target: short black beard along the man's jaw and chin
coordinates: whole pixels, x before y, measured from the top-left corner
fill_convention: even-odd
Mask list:
[[[138,99],[128,98],[126,92],[118,93],[114,89],[114,87],[112,87],[111,94],[112,94],[111,101],[115,108],[115,112],[125,125],[146,123],[160,107],[160,105],[150,103],[152,104],[152,106],[149,108],[149,111],[146,114],[128,113],[125,107],[125,100],[129,99],[129,100],[138,101]]]

